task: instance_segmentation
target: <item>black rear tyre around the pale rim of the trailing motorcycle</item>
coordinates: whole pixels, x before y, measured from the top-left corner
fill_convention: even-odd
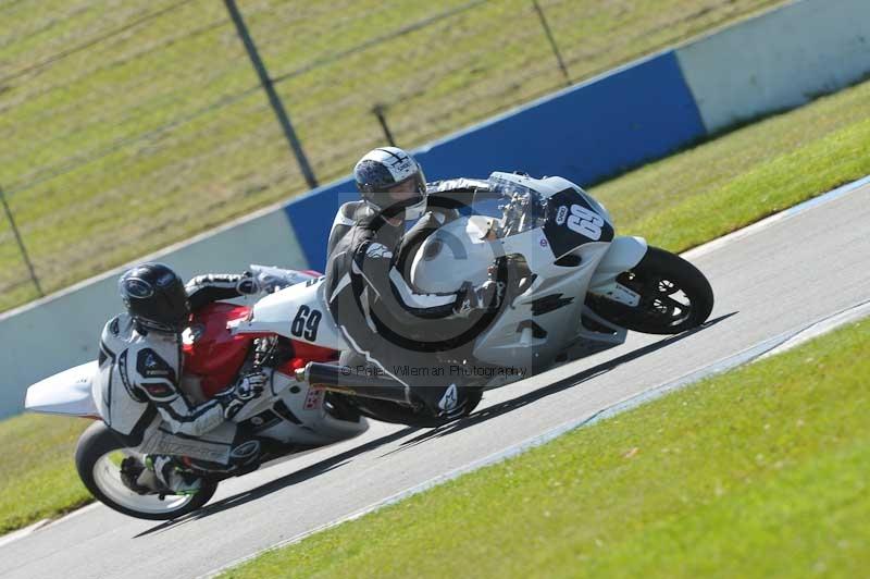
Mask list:
[[[108,454],[121,451],[125,447],[122,440],[112,432],[109,427],[98,421],[85,430],[78,439],[78,444],[75,449],[75,467],[78,470],[78,477],[82,479],[82,482],[85,483],[87,490],[90,491],[90,494],[109,508],[139,519],[170,520],[202,507],[211,500],[214,492],[217,490],[216,482],[203,481],[202,488],[195,495],[189,497],[170,495],[166,497],[167,502],[160,501],[157,495],[147,495],[147,498],[141,496],[137,500],[135,496],[140,495],[135,495],[133,491],[129,491],[130,501],[127,505],[124,505],[109,496],[107,493],[111,493],[112,491],[110,491],[108,486],[102,486],[107,484],[105,482],[100,482],[101,480],[109,481],[111,478],[102,475],[95,476],[95,469],[103,469],[108,472],[109,465],[101,463],[101,459]],[[117,486],[115,492],[123,493],[123,489]],[[142,506],[142,509],[139,510],[136,508],[137,501],[142,505],[153,503],[154,507],[146,508]],[[164,510],[160,509],[161,503],[166,506]],[[171,507],[170,505],[173,503],[177,503],[178,506],[174,508]]]

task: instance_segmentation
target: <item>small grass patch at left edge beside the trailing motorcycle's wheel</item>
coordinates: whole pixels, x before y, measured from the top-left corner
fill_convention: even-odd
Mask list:
[[[89,420],[23,415],[0,421],[0,533],[92,501],[73,465]]]

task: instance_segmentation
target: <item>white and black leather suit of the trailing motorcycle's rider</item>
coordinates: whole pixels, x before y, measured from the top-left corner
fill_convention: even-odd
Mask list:
[[[185,290],[196,310],[217,299],[257,293],[259,287],[249,275],[208,274],[194,278]],[[98,361],[95,398],[100,415],[126,444],[141,444],[144,453],[221,466],[249,464],[259,455],[259,442],[231,420],[256,393],[245,399],[227,391],[195,401],[183,386],[181,334],[148,331],[124,312],[103,328]]]

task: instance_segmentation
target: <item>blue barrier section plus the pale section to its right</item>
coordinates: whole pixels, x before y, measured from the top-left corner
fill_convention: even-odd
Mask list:
[[[413,151],[430,180],[521,170],[591,184],[870,74],[870,0],[800,0]],[[312,267],[351,178],[286,206]]]

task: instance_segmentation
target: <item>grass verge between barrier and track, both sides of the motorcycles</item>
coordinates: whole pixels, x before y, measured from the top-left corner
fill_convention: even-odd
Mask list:
[[[591,192],[611,210],[621,233],[644,235],[671,250],[686,249],[870,173],[870,156],[861,152],[870,150],[869,119],[867,82]],[[80,503],[84,488],[71,457],[78,432],[87,424],[58,420],[22,416],[0,421],[0,464],[12,465],[0,472],[0,496],[8,497],[0,498],[0,532]],[[57,486],[51,486],[52,477],[40,460],[12,460],[23,447],[18,438],[30,440],[32,432],[48,433],[52,444],[63,441],[57,448],[33,447],[32,453],[53,457],[46,464],[58,467]],[[30,444],[41,443],[34,438]],[[76,492],[67,494],[72,488]],[[45,498],[32,508],[27,501],[9,498],[15,496],[11,489],[42,489]]]

